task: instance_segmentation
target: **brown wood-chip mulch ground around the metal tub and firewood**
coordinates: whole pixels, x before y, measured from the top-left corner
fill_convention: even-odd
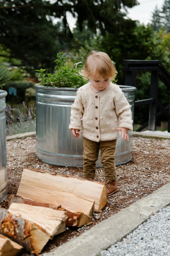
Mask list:
[[[170,181],[170,140],[133,137],[132,157],[131,162],[117,166],[118,193],[108,196],[106,206],[99,213],[94,213],[87,225],[79,229],[67,228],[65,232],[55,236],[44,247],[42,253],[49,252],[79,236],[92,226]],[[17,193],[23,167],[40,168],[47,172],[82,177],[80,167],[54,166],[39,160],[35,156],[35,137],[8,141],[8,196],[1,203],[1,207],[7,208],[9,196]],[[105,180],[103,168],[96,168],[95,180]],[[26,254],[26,251],[23,251],[21,255]]]

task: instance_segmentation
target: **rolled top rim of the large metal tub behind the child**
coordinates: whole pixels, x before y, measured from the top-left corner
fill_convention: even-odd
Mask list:
[[[78,90],[78,88],[71,88],[71,87],[47,87],[47,86],[43,86],[43,85],[38,85],[35,84],[35,87],[37,89],[44,89],[44,90],[51,90],[51,91],[72,91],[72,92],[76,92]],[[136,87],[134,86],[129,86],[129,85],[119,85],[120,89],[123,92],[130,92],[130,91],[135,91]]]

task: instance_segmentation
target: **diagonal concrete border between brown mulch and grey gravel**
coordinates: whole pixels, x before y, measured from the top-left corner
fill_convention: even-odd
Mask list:
[[[170,182],[42,256],[96,256],[170,204]]]

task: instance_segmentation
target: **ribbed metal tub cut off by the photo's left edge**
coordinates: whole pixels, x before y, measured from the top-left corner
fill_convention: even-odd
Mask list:
[[[6,96],[7,92],[0,90],[0,202],[7,197]]]

